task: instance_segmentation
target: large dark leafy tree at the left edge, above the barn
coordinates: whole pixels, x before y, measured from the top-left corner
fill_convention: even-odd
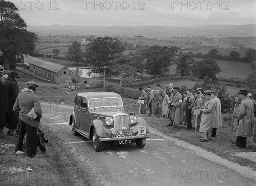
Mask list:
[[[32,54],[38,37],[34,32],[26,30],[26,23],[17,13],[14,3],[0,1],[0,51],[3,52],[5,68],[15,55]]]

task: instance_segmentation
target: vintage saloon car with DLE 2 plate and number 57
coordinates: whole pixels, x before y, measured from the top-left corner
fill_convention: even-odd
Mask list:
[[[101,151],[102,142],[114,144],[136,143],[143,148],[149,137],[148,125],[137,116],[122,112],[122,97],[113,92],[79,93],[69,124],[76,136],[81,134],[93,141],[95,151]]]

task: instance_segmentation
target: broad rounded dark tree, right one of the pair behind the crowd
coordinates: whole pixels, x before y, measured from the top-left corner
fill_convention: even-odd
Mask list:
[[[221,72],[221,69],[214,59],[206,58],[203,61],[195,61],[191,71],[195,78],[203,79],[209,76],[209,78],[216,79],[216,74]]]

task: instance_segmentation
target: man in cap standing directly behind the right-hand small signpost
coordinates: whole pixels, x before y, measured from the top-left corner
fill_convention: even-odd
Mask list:
[[[192,128],[193,130],[195,130],[195,116],[194,115],[194,110],[198,110],[200,109],[201,107],[203,107],[203,100],[202,100],[202,97],[199,97],[199,92],[195,92],[195,103],[194,103],[194,107],[192,108],[191,110],[191,113],[192,113]],[[197,130],[199,131],[199,128],[200,128],[200,122],[201,122],[201,113],[198,114],[198,119],[197,119]]]

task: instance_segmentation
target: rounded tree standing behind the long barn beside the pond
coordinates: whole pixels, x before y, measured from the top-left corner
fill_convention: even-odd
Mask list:
[[[67,52],[67,60],[75,61],[77,65],[83,60],[81,46],[77,41],[74,41]]]

